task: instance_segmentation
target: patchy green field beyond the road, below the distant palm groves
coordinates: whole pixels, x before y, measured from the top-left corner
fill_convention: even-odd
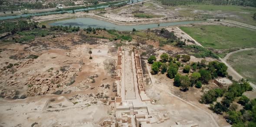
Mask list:
[[[202,18],[217,18],[233,20],[256,26],[256,20],[253,20],[253,14],[256,13],[256,7],[249,6],[232,6],[232,5],[213,5],[213,4],[193,4],[189,6],[167,6],[166,9],[174,10],[182,8],[178,11],[179,16],[202,17]],[[194,11],[204,11],[203,13],[195,13]],[[209,12],[208,12],[209,11]],[[217,13],[219,14],[213,14]]]

